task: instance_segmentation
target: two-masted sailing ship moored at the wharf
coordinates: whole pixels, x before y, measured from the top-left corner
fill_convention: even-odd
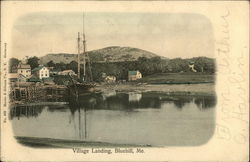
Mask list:
[[[82,48],[81,48],[81,42],[82,42]],[[82,49],[82,51],[81,51]],[[84,32],[84,14],[83,14],[83,33],[82,33],[82,38],[80,37],[80,32],[78,32],[78,37],[77,37],[77,62],[78,62],[78,67],[77,67],[77,78],[78,80],[72,80],[72,85],[70,86],[71,88],[76,89],[79,93],[81,92],[89,92],[93,91],[94,87],[96,86],[95,83],[93,83],[92,79],[92,71],[91,71],[91,66],[90,66],[90,58],[88,56],[88,53],[86,52],[86,39],[85,39],[85,32]],[[81,56],[83,56],[83,76],[81,77]],[[86,59],[88,60],[88,68],[89,68],[89,76],[86,75]]]

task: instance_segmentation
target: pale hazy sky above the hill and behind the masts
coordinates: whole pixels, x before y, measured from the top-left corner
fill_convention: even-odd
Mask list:
[[[13,57],[76,53],[82,13],[32,13],[13,26]],[[129,46],[168,58],[213,57],[210,21],[198,14],[85,13],[87,50]]]

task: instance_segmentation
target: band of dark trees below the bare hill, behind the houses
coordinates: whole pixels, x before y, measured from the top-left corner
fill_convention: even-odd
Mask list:
[[[13,66],[17,66],[20,60],[16,58],[10,59],[10,69]],[[197,72],[206,74],[213,74],[216,71],[215,59],[207,57],[195,57],[191,59],[161,59],[160,57],[146,58],[139,57],[136,61],[123,61],[123,62],[92,62],[89,66],[89,62],[86,64],[87,76],[92,73],[93,80],[99,81],[102,73],[107,75],[113,75],[118,80],[126,80],[128,77],[128,71],[139,70],[143,76],[152,75],[155,73],[179,73],[190,72],[189,64],[193,63]],[[39,66],[39,58],[36,56],[27,59],[27,64],[34,69]],[[73,70],[77,73],[77,62],[71,61],[69,64],[63,62],[54,63],[49,61],[45,66],[53,67],[54,70]],[[91,67],[89,69],[88,67]],[[83,73],[83,65],[81,65],[81,75]]]

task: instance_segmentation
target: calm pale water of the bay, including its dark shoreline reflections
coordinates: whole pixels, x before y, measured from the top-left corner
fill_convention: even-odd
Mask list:
[[[215,96],[110,92],[69,101],[11,108],[15,135],[182,146],[206,143],[215,127]]]

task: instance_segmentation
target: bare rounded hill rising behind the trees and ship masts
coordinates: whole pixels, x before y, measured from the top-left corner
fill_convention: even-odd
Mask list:
[[[119,46],[112,46],[88,51],[87,54],[89,55],[92,62],[134,61],[139,57],[152,58],[158,56],[152,52],[142,49]],[[46,56],[40,57],[40,64],[46,64],[51,60],[54,63],[63,62],[68,64],[71,61],[77,61],[77,55],[68,53],[47,54]]]

